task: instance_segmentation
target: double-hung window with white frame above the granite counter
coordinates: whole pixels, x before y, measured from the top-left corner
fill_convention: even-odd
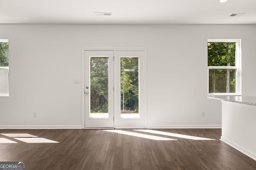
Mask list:
[[[208,95],[241,95],[240,48],[240,39],[208,39]]]

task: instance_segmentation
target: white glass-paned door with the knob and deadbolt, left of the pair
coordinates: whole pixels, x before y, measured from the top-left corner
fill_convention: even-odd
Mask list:
[[[85,127],[114,127],[114,51],[85,51]]]

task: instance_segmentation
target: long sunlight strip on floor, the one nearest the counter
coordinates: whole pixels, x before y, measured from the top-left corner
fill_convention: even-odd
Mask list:
[[[178,134],[178,133],[154,131],[154,130],[150,130],[150,129],[133,129],[133,130],[140,131],[140,132],[146,132],[146,133],[154,133],[154,134],[158,134],[158,135],[171,136],[171,137],[179,137],[179,138],[184,138],[184,139],[192,139],[192,140],[215,140],[215,139],[209,139],[209,138],[204,138],[204,137],[182,135],[182,134]]]

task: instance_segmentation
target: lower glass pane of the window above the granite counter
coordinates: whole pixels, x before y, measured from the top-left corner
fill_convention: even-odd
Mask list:
[[[209,69],[209,93],[236,93],[236,69]]]

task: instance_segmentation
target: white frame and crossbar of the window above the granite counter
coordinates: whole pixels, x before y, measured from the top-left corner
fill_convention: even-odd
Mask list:
[[[236,66],[208,66],[208,69],[207,69],[208,96],[209,95],[241,96],[242,94],[241,93],[241,39],[208,39],[207,43],[209,42],[236,43],[236,57],[235,57]],[[209,70],[210,69],[236,69],[236,93],[209,93]]]

